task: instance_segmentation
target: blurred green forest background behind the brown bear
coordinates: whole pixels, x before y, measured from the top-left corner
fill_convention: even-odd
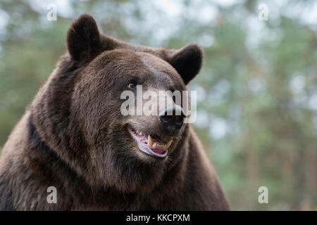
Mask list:
[[[47,20],[55,4],[57,20]],[[259,4],[268,20],[259,19]],[[0,1],[0,146],[90,13],[133,44],[204,48],[194,124],[232,210],[317,210],[317,2]],[[268,188],[268,204],[258,188]]]

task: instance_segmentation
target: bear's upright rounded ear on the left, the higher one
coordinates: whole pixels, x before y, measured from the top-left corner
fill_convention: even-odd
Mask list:
[[[80,15],[67,32],[67,48],[73,60],[87,60],[100,51],[100,34],[94,18],[88,14]]]

